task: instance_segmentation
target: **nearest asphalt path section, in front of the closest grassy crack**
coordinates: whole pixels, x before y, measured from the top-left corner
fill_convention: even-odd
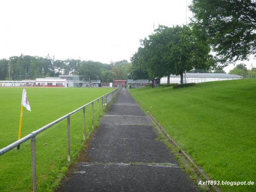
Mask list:
[[[80,166],[67,178],[62,192],[198,192],[179,168],[133,166]]]

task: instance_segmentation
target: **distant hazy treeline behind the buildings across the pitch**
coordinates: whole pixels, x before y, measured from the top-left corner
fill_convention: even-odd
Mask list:
[[[59,75],[79,75],[84,81],[99,79],[111,82],[113,79],[127,79],[131,64],[126,60],[103,64],[81,59],[58,60],[46,57],[20,55],[0,60],[0,80],[36,79],[58,77]],[[10,79],[9,79],[10,75]]]

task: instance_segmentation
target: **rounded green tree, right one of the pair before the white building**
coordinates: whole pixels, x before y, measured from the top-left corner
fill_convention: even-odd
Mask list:
[[[181,84],[185,70],[208,70],[215,65],[207,42],[196,38],[188,26],[176,26],[172,30],[173,41],[169,44],[169,59],[174,63],[172,73],[180,75]]]

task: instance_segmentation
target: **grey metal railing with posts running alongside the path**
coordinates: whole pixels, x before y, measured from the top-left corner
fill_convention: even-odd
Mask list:
[[[97,118],[99,119],[99,99],[102,99],[102,114],[103,114],[103,107],[107,106],[113,98],[116,97],[116,94],[119,92],[119,88],[87,103],[86,105],[83,105],[82,107],[67,113],[67,115],[62,116],[59,119],[56,119],[55,121],[49,123],[48,125],[45,125],[44,127],[39,128],[36,131],[33,131],[32,133],[26,135],[25,137],[21,138],[20,140],[15,141],[14,143],[0,149],[0,156],[7,153],[8,151],[12,150],[13,148],[17,147],[18,145],[26,142],[27,140],[31,140],[31,166],[32,166],[32,187],[33,187],[33,192],[36,192],[36,155],[35,155],[35,150],[36,150],[36,136],[40,134],[41,132],[45,131],[46,129],[52,127],[52,125],[55,125],[58,122],[61,122],[64,119],[67,119],[67,161],[70,163],[70,116],[73,115],[74,113],[80,111],[83,109],[83,140],[85,140],[85,108],[89,105],[92,105],[92,128],[94,128],[94,102],[97,102]],[[105,99],[103,99],[105,97]],[[105,103],[103,104],[103,100],[105,100]]]

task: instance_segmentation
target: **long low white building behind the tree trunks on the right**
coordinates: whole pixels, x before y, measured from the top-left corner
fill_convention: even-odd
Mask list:
[[[233,79],[242,79],[239,75],[231,75],[226,73],[186,73],[186,83],[201,83],[208,81],[224,81]],[[183,81],[185,81],[185,74],[183,73]],[[161,84],[167,83],[167,77],[160,80]],[[180,83],[180,76],[171,75],[170,83]]]

